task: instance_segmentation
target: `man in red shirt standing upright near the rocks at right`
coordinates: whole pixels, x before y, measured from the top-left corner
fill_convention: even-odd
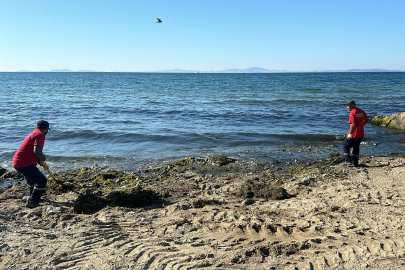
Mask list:
[[[347,102],[346,108],[350,112],[350,129],[343,142],[343,152],[346,163],[357,167],[359,165],[360,143],[364,137],[364,125],[368,123],[369,119],[362,109],[356,107],[356,102],[354,101]],[[351,155],[350,148],[353,148]]]

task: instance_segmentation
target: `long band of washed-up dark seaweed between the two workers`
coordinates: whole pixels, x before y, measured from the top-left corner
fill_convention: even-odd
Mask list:
[[[226,156],[215,156],[186,157],[160,168],[130,173],[98,166],[82,167],[56,173],[62,181],[49,181],[46,195],[77,194],[71,211],[78,214],[91,214],[106,206],[164,207],[182,197],[196,197],[201,189],[221,189],[229,182],[238,183],[230,193],[235,198],[284,200],[296,196],[283,187],[288,179],[310,171],[318,175],[311,181],[319,181],[328,173],[334,177],[329,168],[341,162],[343,157],[334,153],[321,161],[281,166],[241,163]],[[3,172],[3,175],[9,174],[12,173]],[[308,181],[304,185],[309,185]]]

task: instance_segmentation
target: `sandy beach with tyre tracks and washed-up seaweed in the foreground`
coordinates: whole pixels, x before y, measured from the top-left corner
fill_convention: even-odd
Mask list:
[[[185,158],[0,189],[1,269],[405,269],[405,158]]]

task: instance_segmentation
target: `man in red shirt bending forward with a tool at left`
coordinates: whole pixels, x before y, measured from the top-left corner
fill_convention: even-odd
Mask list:
[[[39,206],[39,200],[45,192],[47,179],[37,168],[37,163],[41,163],[45,170],[49,170],[44,163],[46,157],[42,153],[48,130],[50,130],[49,123],[44,120],[39,121],[37,128],[24,139],[14,155],[13,168],[27,180],[29,198],[25,206],[28,208]]]

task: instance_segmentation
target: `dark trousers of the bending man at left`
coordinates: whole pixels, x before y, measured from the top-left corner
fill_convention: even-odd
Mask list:
[[[45,192],[47,179],[43,173],[35,165],[30,165],[23,168],[15,168],[19,173],[24,175],[27,180],[29,201],[39,202],[42,194]]]

